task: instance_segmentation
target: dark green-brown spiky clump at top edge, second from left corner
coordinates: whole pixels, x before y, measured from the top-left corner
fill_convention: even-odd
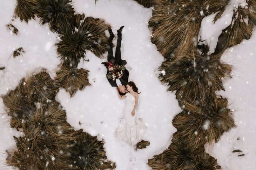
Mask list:
[[[35,13],[42,24],[48,23],[50,30],[56,30],[63,20],[71,19],[74,9],[71,0],[37,0]]]

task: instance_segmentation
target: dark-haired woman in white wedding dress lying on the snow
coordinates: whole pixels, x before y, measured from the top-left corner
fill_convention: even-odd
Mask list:
[[[146,127],[135,115],[139,99],[138,88],[133,81],[130,81],[127,83],[126,89],[128,91],[126,95],[121,96],[117,93],[120,99],[126,97],[126,105],[124,108],[124,122],[116,129],[116,135],[122,141],[135,147],[145,133]]]

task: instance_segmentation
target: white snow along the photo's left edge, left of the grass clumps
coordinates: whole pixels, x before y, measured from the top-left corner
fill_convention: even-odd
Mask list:
[[[38,18],[28,24],[13,18],[15,5],[15,0],[2,0],[0,5],[0,67],[5,67],[0,71],[0,95],[15,89],[22,77],[42,68],[54,78],[55,69],[61,62],[55,51],[56,34],[49,30],[48,25],[40,25]],[[12,24],[19,30],[18,35],[11,34],[5,26],[12,19]],[[19,47],[23,47],[25,53],[13,58],[13,51]],[[0,113],[0,169],[13,169],[5,165],[5,150],[15,146],[13,136],[18,137],[21,133],[11,128],[2,98]]]

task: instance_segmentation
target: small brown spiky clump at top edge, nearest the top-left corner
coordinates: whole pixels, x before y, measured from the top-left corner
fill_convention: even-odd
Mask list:
[[[14,14],[20,18],[20,21],[28,22],[28,20],[35,19],[34,7],[35,0],[17,0]]]

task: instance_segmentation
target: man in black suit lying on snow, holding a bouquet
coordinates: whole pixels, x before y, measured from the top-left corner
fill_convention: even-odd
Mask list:
[[[119,30],[117,30],[117,44],[116,44],[116,52],[115,52],[115,58],[113,56],[113,38],[115,37],[112,29],[109,28],[108,32],[110,34],[109,40],[108,40],[108,61],[107,62],[102,62],[101,64],[104,64],[105,67],[107,68],[107,74],[109,71],[112,71],[114,69],[114,65],[126,65],[126,60],[121,59],[121,41],[122,41],[122,29],[124,26],[120,27]],[[129,77],[129,72],[127,69],[124,69],[123,75],[120,77],[120,79],[112,80],[108,79],[108,82],[112,87],[117,87],[119,90],[119,94],[125,95],[126,94],[126,85],[128,83],[128,77]]]

